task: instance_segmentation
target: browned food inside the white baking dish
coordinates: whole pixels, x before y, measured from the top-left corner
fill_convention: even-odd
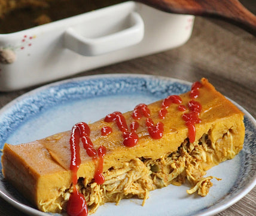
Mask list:
[[[125,0],[0,0],[0,33],[13,33]]]

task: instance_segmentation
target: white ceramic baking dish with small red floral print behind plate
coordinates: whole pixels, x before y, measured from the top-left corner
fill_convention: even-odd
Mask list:
[[[0,91],[18,90],[168,50],[190,38],[194,17],[124,2],[0,35]]]

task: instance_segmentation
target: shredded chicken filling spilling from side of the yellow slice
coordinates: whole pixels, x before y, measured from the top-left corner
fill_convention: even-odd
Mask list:
[[[230,154],[227,158],[233,158],[231,132],[228,131],[223,138],[228,139],[230,143],[225,149],[225,154]],[[89,214],[96,212],[99,205],[105,202],[115,202],[118,205],[124,198],[143,199],[142,205],[144,205],[151,190],[166,187],[169,184],[180,186],[185,180],[191,184],[191,189],[187,190],[188,194],[197,192],[200,196],[206,196],[212,186],[211,180],[215,177],[204,177],[206,172],[202,168],[202,162],[215,163],[214,156],[218,151],[215,145],[216,143],[212,143],[207,134],[195,143],[185,140],[176,152],[160,159],[136,158],[125,163],[123,168],[109,169],[103,173],[105,182],[102,185],[80,178],[77,187],[86,198]],[[63,199],[62,206],[65,206],[70,193],[72,193],[72,187],[60,192]],[[44,204],[47,205],[47,203]],[[51,205],[53,204],[51,200]]]

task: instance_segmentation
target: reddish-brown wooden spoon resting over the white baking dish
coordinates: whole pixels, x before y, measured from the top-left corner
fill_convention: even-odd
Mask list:
[[[256,16],[238,0],[137,0],[175,14],[221,18],[256,36]]]

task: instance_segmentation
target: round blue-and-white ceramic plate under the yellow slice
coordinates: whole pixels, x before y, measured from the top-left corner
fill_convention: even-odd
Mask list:
[[[97,75],[46,85],[12,101],[0,111],[0,149],[4,143],[19,144],[66,131],[80,121],[93,122],[116,110],[132,110],[139,103],[151,103],[170,94],[190,90],[190,83],[147,75]],[[188,185],[154,190],[142,207],[142,200],[106,203],[95,216],[104,215],[214,215],[233,205],[256,184],[256,121],[246,110],[245,144],[234,159],[221,163],[207,175],[213,180],[208,196],[187,195]],[[2,153],[0,153],[2,154]],[[1,155],[0,155],[1,156]],[[33,215],[48,215],[33,208],[0,172],[0,196]],[[58,215],[58,214],[56,214]]]

